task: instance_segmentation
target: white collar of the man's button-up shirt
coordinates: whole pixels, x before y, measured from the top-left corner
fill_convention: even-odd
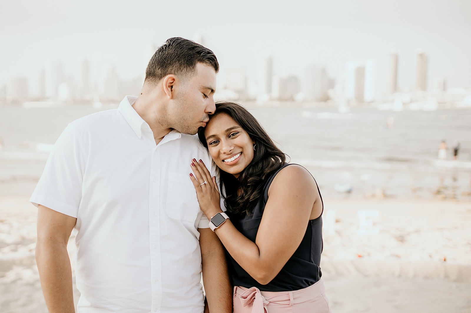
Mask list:
[[[134,110],[132,107],[137,99],[138,97],[135,96],[125,96],[122,102],[119,104],[118,110],[122,113],[123,117],[131,126],[134,133],[136,133],[139,139],[141,139],[143,130],[149,132],[152,132],[152,130],[146,121],[143,120],[142,117],[139,116],[138,112],[136,112],[136,110]],[[163,137],[162,141],[159,142],[159,145],[179,138],[181,138],[181,133],[175,129],[172,129],[170,133]]]

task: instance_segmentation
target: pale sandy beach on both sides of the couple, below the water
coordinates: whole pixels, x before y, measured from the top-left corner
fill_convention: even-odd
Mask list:
[[[358,210],[378,211],[368,228],[377,235],[359,234]],[[0,313],[45,313],[36,208],[26,196],[1,196],[0,216]],[[334,313],[471,312],[471,203],[325,199],[324,219],[321,267]]]

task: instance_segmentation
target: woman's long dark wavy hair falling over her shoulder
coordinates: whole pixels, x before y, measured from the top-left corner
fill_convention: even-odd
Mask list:
[[[270,174],[285,164],[286,157],[270,139],[267,132],[252,114],[242,105],[234,102],[217,102],[213,116],[226,113],[247,132],[255,142],[255,151],[252,162],[247,165],[239,178],[220,171],[219,186],[224,186],[222,196],[227,211],[232,214],[252,215],[253,209],[262,196],[263,186]],[[198,129],[198,137],[204,147],[208,148],[204,128]],[[240,191],[238,189],[240,188]]]

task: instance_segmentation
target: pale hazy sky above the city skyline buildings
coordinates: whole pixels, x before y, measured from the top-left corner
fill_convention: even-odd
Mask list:
[[[123,81],[142,79],[146,63],[143,56],[149,57],[149,47],[155,48],[172,36],[192,39],[199,33],[203,37],[204,45],[213,49],[218,56],[221,64],[218,81],[224,82],[230,76],[225,74],[226,70],[242,68],[247,76],[247,89],[253,87],[251,85],[254,81],[263,84],[260,80],[260,63],[265,55],[271,55],[273,75],[285,78],[294,75],[301,80],[305,79],[306,67],[309,64],[325,66],[326,75],[339,81],[345,75],[347,63],[355,60],[375,60],[374,89],[378,92],[388,92],[391,84],[390,54],[395,51],[399,60],[396,88],[402,91],[414,90],[417,86],[419,48],[427,54],[425,81],[428,90],[434,88],[432,82],[437,77],[443,78],[449,88],[470,88],[471,43],[467,39],[466,29],[471,29],[471,22],[463,19],[462,12],[470,5],[458,1],[455,7],[448,5],[442,8],[435,3],[424,1],[414,1],[407,5],[401,1],[394,3],[396,6],[385,2],[384,8],[378,8],[372,1],[362,1],[355,8],[347,1],[341,2],[342,5],[338,8],[302,2],[298,2],[298,7],[282,8],[273,3],[269,12],[260,15],[258,20],[252,20],[251,24],[231,24],[227,20],[222,23],[216,14],[213,20],[200,21],[192,26],[186,20],[178,23],[177,27],[171,27],[169,23],[162,22],[169,21],[166,16],[163,19],[159,17],[154,23],[149,20],[134,21],[132,26],[126,27],[125,24],[118,23],[119,19],[102,16],[90,22],[96,26],[91,29],[90,23],[80,25],[76,16],[80,13],[84,19],[94,17],[95,10],[104,9],[100,5],[94,10],[87,10],[87,2],[78,7],[77,4],[68,6],[56,3],[57,11],[54,15],[54,10],[46,10],[52,9],[51,4],[44,4],[44,8],[38,8],[40,12],[37,14],[42,14],[42,18],[39,18],[32,11],[34,3],[31,3],[28,10],[15,11],[13,9],[18,4],[3,1],[2,6],[12,9],[11,12],[17,12],[12,13],[17,20],[2,14],[5,19],[0,22],[1,25],[10,23],[10,27],[2,27],[0,31],[0,45],[3,46],[0,85],[8,83],[11,78],[24,77],[28,78],[30,94],[40,95],[41,70],[51,61],[62,63],[63,74],[67,78],[73,78],[78,85],[83,85],[82,62],[89,60],[90,88],[101,83],[106,71],[104,68],[108,69],[108,74],[114,71],[113,75]],[[150,2],[140,2],[138,6],[155,9],[155,4]],[[57,14],[60,10],[72,8],[79,12]],[[109,9],[117,12],[119,8],[123,8],[123,2],[116,2]],[[130,9],[136,8],[135,6]],[[317,19],[302,20],[306,14],[301,8],[311,10]],[[221,10],[223,8],[216,7],[215,13]],[[231,15],[237,10],[235,8]],[[359,19],[362,21],[352,18],[347,14],[348,10],[351,15],[362,17]],[[270,16],[279,16],[281,11],[284,11],[286,17],[284,25],[267,20]],[[321,18],[320,11],[328,14]],[[413,13],[420,14],[411,19]],[[195,20],[187,10],[182,14],[189,17],[190,21],[192,18]],[[234,16],[234,21],[228,20],[245,23],[248,22],[247,16],[252,15],[252,12],[244,12],[240,16]],[[295,19],[296,15],[299,20]],[[390,15],[403,19],[396,21]],[[48,21],[48,16],[54,16],[56,27]],[[70,19],[66,20],[65,16]],[[405,17],[408,18],[404,19]],[[29,20],[24,20],[25,18]],[[25,24],[19,25],[20,21]],[[215,24],[218,21],[221,24]],[[306,24],[299,24],[300,21]],[[30,25],[29,29],[27,25]],[[106,89],[105,86],[100,88],[102,92]]]

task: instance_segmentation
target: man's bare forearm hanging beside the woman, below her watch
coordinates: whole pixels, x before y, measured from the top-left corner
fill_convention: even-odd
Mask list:
[[[198,228],[198,231],[209,312],[232,313],[232,285],[222,243],[210,228]]]

